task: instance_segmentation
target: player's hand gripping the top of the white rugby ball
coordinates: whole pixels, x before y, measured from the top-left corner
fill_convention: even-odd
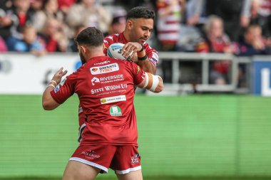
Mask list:
[[[126,43],[121,52],[123,52],[123,57],[126,58],[127,60],[133,60],[133,56],[136,55],[138,51],[140,51],[142,48],[140,43],[137,42],[128,42]]]

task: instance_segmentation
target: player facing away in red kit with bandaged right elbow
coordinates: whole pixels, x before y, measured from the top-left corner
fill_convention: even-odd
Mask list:
[[[160,92],[163,80],[145,73],[136,63],[105,56],[103,33],[97,28],[84,29],[76,42],[83,65],[64,82],[61,78],[67,71],[58,70],[42,102],[44,110],[53,110],[76,93],[86,112],[81,142],[68,161],[63,179],[91,180],[108,168],[121,180],[143,179],[134,85]]]

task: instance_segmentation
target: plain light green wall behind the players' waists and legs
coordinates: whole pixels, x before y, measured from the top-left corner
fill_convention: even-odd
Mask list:
[[[271,176],[271,98],[135,97],[143,174]],[[61,176],[76,149],[78,100],[0,95],[0,177]],[[111,175],[114,176],[111,171]]]

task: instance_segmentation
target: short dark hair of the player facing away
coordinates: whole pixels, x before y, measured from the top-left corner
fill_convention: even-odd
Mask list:
[[[87,46],[101,46],[103,45],[103,33],[95,27],[88,27],[83,29],[74,41],[78,45],[87,45]]]

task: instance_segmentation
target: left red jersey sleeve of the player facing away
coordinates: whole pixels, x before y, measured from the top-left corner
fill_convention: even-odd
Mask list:
[[[72,76],[68,76],[65,80],[62,80],[54,90],[51,90],[51,96],[53,100],[62,104],[65,102],[68,97],[71,97],[74,93],[74,81]]]

